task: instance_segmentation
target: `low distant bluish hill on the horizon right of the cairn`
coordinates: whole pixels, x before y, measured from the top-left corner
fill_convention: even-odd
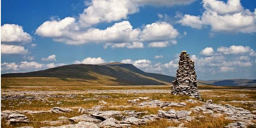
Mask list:
[[[208,80],[209,84],[218,86],[242,86],[242,87],[256,87],[256,79],[222,79],[222,80]]]

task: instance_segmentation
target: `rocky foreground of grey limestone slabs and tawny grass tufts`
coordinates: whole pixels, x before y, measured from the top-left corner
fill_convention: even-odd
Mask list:
[[[256,90],[1,90],[3,128],[256,128]],[[211,99],[211,100],[210,100]]]

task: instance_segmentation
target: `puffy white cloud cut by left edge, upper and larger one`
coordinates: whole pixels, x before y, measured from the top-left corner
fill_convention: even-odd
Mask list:
[[[31,42],[31,36],[23,31],[22,26],[4,24],[1,26],[1,42]]]

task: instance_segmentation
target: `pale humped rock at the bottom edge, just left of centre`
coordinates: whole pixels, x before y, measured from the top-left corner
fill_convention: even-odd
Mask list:
[[[100,128],[122,128],[120,122],[114,118],[108,118],[99,124]]]

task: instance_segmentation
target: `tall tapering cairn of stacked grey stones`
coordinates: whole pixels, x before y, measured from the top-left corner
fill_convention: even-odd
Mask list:
[[[180,53],[179,69],[177,70],[177,79],[172,81],[173,95],[188,95],[192,98],[201,99],[197,88],[196,73],[194,61],[189,58],[186,51]]]

